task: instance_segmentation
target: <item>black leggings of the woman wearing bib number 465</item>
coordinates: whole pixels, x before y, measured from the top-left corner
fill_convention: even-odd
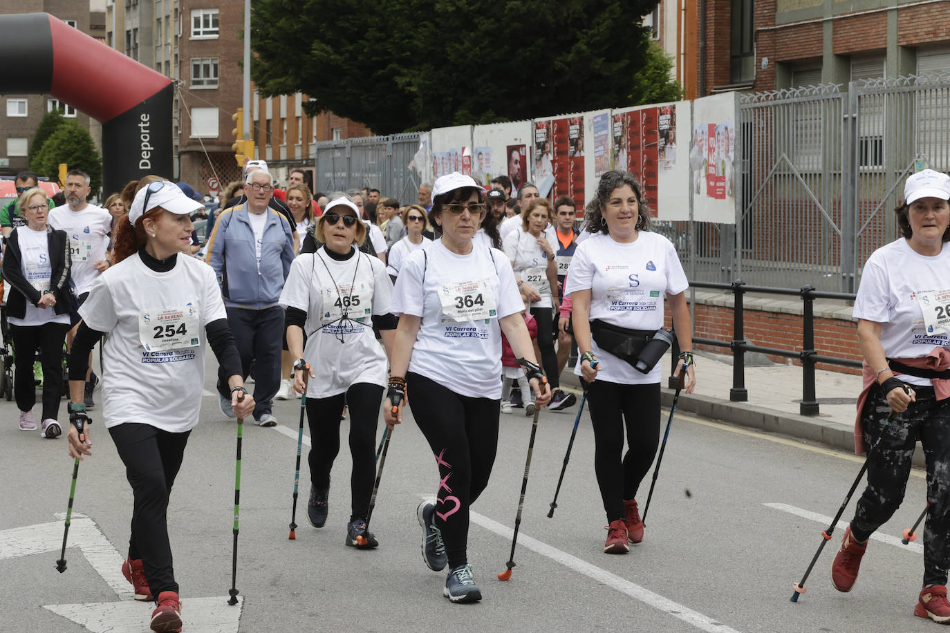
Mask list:
[[[340,452],[340,414],[345,402],[350,405],[351,521],[365,519],[370,508],[372,482],[376,477],[376,425],[382,401],[383,387],[368,382],[352,384],[346,393],[330,398],[307,399],[310,481],[320,490],[330,488],[333,459]]]

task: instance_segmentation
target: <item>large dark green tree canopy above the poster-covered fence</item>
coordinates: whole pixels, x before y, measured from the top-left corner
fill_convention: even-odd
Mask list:
[[[679,94],[638,24],[657,4],[256,0],[251,76],[377,134],[636,105]]]

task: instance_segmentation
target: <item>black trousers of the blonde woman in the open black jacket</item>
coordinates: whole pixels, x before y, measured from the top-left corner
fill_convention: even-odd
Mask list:
[[[36,350],[43,349],[43,419],[56,419],[59,402],[63,397],[63,342],[66,341],[66,323],[47,323],[42,326],[14,326],[10,336],[16,352],[16,373],[13,376],[13,394],[20,411],[29,411],[36,404],[36,382],[33,360]]]

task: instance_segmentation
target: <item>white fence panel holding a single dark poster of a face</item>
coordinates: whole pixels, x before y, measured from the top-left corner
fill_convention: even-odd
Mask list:
[[[531,121],[476,125],[472,130],[472,177],[485,187],[490,186],[493,177],[510,177],[517,181],[511,192],[515,195],[530,178],[528,148],[531,147],[531,135]]]

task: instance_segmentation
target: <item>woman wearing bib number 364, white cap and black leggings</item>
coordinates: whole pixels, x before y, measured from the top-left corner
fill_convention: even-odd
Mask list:
[[[402,421],[411,394],[412,416],[440,477],[436,504],[423,502],[416,511],[423,560],[434,571],[448,566],[443,595],[453,603],[482,599],[468,565],[468,508],[485,490],[498,448],[502,331],[525,360],[537,405],[551,399],[508,259],[472,244],[484,214],[485,190],[475,180],[458,173],[438,178],[429,216],[441,237],[405,260],[391,307],[400,317],[386,423]]]

